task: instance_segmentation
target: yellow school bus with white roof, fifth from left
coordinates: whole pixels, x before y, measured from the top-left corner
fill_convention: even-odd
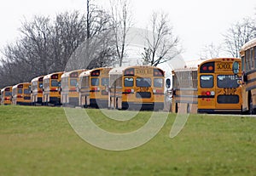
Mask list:
[[[85,70],[68,71],[61,75],[61,104],[79,105],[79,75]]]

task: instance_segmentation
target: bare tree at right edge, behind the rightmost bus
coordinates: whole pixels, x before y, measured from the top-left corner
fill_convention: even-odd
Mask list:
[[[244,43],[256,37],[256,24],[251,18],[245,18],[241,22],[230,26],[224,34],[225,50],[232,57],[238,58],[239,51]]]

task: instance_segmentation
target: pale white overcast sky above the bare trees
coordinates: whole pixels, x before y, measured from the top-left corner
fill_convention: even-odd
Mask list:
[[[108,0],[95,0],[104,5]],[[84,11],[86,0],[5,0],[0,5],[0,48],[19,37],[18,28],[34,14],[54,17],[66,10]],[[218,44],[232,23],[255,16],[255,0],[131,0],[134,26],[146,27],[153,11],[169,14],[180,37],[183,59],[197,60],[206,44]]]

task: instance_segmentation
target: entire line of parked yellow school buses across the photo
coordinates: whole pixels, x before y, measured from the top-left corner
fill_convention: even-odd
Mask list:
[[[172,71],[171,78],[153,66],[55,72],[3,88],[1,104],[146,110],[167,105],[172,112],[255,114],[256,38],[240,54],[241,59],[200,60]]]

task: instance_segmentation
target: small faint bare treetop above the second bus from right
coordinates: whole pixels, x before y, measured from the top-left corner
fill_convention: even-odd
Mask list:
[[[204,46],[201,52],[202,59],[218,58],[222,53],[222,45],[215,45],[213,43]]]

